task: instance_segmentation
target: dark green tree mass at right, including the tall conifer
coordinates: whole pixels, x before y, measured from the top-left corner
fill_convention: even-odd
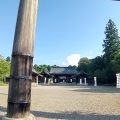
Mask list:
[[[97,76],[99,81],[115,83],[116,73],[120,72],[120,37],[111,19],[106,24],[104,33],[103,55],[93,59],[81,58],[77,70],[84,70],[91,77]]]

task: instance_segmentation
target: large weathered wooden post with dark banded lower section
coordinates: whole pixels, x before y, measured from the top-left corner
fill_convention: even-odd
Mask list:
[[[33,49],[38,0],[20,0],[10,71],[7,117],[30,115]]]

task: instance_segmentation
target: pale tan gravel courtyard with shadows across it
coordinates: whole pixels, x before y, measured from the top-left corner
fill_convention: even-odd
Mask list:
[[[8,87],[0,87],[0,119]],[[120,89],[94,86],[32,87],[31,113],[37,120],[120,120]]]

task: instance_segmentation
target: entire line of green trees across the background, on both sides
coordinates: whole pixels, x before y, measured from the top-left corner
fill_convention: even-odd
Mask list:
[[[93,59],[83,57],[78,62],[76,70],[81,70],[89,74],[90,77],[96,76],[99,81],[106,83],[116,82],[116,73],[120,72],[120,37],[115,23],[109,19],[105,27],[105,39],[103,40],[103,55],[97,56]],[[51,67],[58,67],[57,65],[37,65],[33,68],[38,72],[45,70],[50,72]],[[72,67],[69,65],[69,67]],[[10,74],[10,57],[6,59],[0,55],[0,79]]]

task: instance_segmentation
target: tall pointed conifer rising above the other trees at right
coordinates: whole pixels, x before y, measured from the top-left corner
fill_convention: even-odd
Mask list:
[[[106,38],[103,44],[103,57],[106,66],[109,66],[115,55],[120,52],[120,39],[118,36],[118,30],[115,23],[111,19],[109,19],[104,33]]]

